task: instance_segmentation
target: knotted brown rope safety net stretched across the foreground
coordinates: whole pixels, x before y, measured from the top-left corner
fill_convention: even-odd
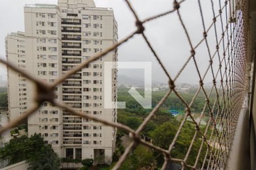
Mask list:
[[[134,7],[131,5],[129,0],[124,0],[127,3],[130,11],[133,13],[134,18],[136,19],[135,25],[137,29],[130,33],[129,36],[117,42],[113,46],[110,46],[108,49],[105,49],[103,52],[96,54],[89,58],[88,60],[81,63],[81,65],[75,67],[75,69],[69,71],[67,74],[63,75],[61,78],[56,80],[53,84],[47,84],[45,82],[40,81],[38,78],[34,76],[24,73],[18,67],[15,67],[11,63],[7,63],[5,60],[1,59],[0,62],[4,63],[10,69],[22,74],[27,79],[31,80],[36,84],[36,104],[34,107],[29,109],[26,113],[22,114],[18,119],[11,121],[8,125],[2,127],[0,129],[0,133],[6,131],[7,129],[14,127],[18,122],[23,120],[24,118],[33,114],[36,110],[40,108],[40,105],[49,101],[54,104],[56,107],[60,107],[70,112],[73,115],[90,118],[94,121],[102,122],[105,125],[113,126],[118,129],[122,129],[129,133],[129,137],[132,139],[132,142],[126,148],[125,152],[115,164],[113,169],[118,169],[121,167],[122,163],[126,160],[127,156],[129,156],[130,152],[138,145],[145,145],[150,147],[164,155],[164,164],[162,169],[168,169],[168,166],[172,162],[176,162],[182,165],[182,169],[192,168],[192,169],[223,169],[226,163],[226,159],[228,157],[228,152],[230,149],[230,145],[232,143],[232,139],[234,136],[234,132],[236,130],[236,125],[238,121],[238,116],[240,114],[240,110],[242,108],[243,101],[245,100],[248,84],[247,84],[247,68],[249,68],[250,63],[250,24],[249,24],[249,1],[248,0],[229,0],[229,1],[213,1],[210,0],[210,4],[212,5],[212,21],[209,24],[209,27],[206,27],[205,22],[209,23],[209,20],[205,20],[203,8],[201,5],[201,1],[195,1],[193,3],[197,3],[199,7],[199,12],[201,15],[201,26],[203,28],[202,38],[199,42],[193,42],[191,40],[191,36],[189,34],[189,30],[186,27],[186,24],[181,15],[180,8],[186,0],[183,1],[174,1],[173,8],[170,11],[163,12],[161,14],[151,16],[147,19],[141,20],[137,15],[137,12],[134,10]],[[218,6],[218,13],[214,10],[214,5]],[[144,24],[151,22],[152,20],[161,18],[165,15],[177,15],[179,19],[179,23],[181,24],[183,31],[185,33],[185,37],[187,38],[185,41],[188,42],[190,49],[190,55],[187,57],[187,60],[180,68],[176,76],[174,78],[171,77],[170,73],[168,73],[166,66],[162,62],[161,58],[156,53],[154,47],[151,42],[148,40],[146,34],[144,33]],[[216,23],[220,24],[216,24]],[[212,52],[210,50],[208,34],[210,31],[213,31],[213,35],[215,37],[216,42],[215,49]],[[192,32],[193,33],[193,32]],[[123,124],[119,124],[116,122],[106,121],[99,117],[90,116],[88,114],[83,114],[76,109],[68,107],[68,105],[61,103],[60,101],[55,99],[54,89],[60,83],[64,82],[65,79],[72,76],[77,71],[81,70],[83,67],[88,65],[90,62],[96,61],[96,59],[100,57],[104,57],[106,54],[118,48],[118,46],[126,43],[127,40],[133,39],[135,35],[141,35],[150,48],[152,54],[154,54],[155,59],[158,61],[159,65],[162,67],[164,74],[168,76],[168,84],[169,89],[166,95],[159,101],[159,103],[155,106],[154,109],[148,114],[148,116],[144,119],[142,124],[139,126],[137,130],[133,130],[128,126]],[[195,45],[196,44],[196,45]],[[212,44],[212,42],[211,42]],[[207,70],[202,73],[199,70],[199,61],[197,60],[197,49],[203,46],[208,52],[209,63]],[[177,78],[179,78],[180,74],[184,71],[184,69],[188,66],[188,62],[193,62],[195,65],[195,71],[199,78],[199,88],[195,92],[192,100],[187,103],[183,97],[179,94],[179,92],[175,88],[175,83]],[[217,63],[218,69],[214,69],[213,64]],[[212,78],[212,86],[210,90],[205,89],[204,80],[207,74],[210,74]],[[203,93],[205,98],[204,107],[201,111],[199,120],[196,120],[192,115],[191,107],[197,96]],[[141,138],[140,133],[143,128],[147,125],[147,123],[154,116],[156,111],[158,111],[159,107],[164,103],[168,96],[171,94],[175,94],[179,100],[185,106],[185,114],[183,120],[179,124],[179,128],[176,131],[175,137],[170,143],[168,150],[155,146],[152,143],[144,141]],[[214,95],[213,102],[210,102],[210,96]],[[206,124],[206,128],[202,129],[200,127],[200,122],[205,114],[208,112],[210,119]],[[214,112],[214,113],[213,113]],[[186,154],[184,158],[172,158],[171,153],[175,148],[175,143],[177,142],[185,123],[190,121],[195,125],[195,133],[193,134],[190,145],[187,148]],[[212,129],[212,130],[210,130]],[[191,154],[191,150],[195,145],[195,142],[200,142],[200,147],[197,150],[197,155],[195,162],[193,164],[188,164],[187,160]],[[204,148],[206,149],[204,150]],[[199,159],[201,163],[199,164]]]

